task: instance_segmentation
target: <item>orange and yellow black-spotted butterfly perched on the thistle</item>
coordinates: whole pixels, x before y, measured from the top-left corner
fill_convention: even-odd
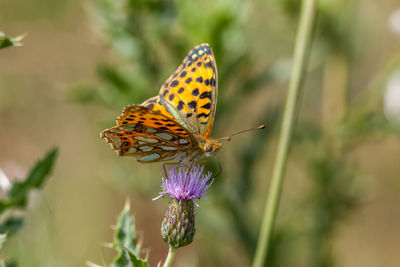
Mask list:
[[[201,44],[189,52],[157,96],[125,107],[117,126],[100,136],[119,155],[142,163],[194,162],[222,146],[220,139],[210,137],[217,96],[214,54],[208,44]]]

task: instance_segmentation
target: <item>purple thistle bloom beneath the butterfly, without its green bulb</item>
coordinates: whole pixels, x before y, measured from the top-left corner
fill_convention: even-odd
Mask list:
[[[168,179],[162,177],[163,191],[155,199],[168,194],[179,202],[192,200],[196,206],[199,206],[194,199],[206,198],[204,194],[214,181],[210,180],[211,172],[203,174],[203,169],[204,166],[200,165],[193,166],[190,172],[184,166],[172,168],[168,171]]]

